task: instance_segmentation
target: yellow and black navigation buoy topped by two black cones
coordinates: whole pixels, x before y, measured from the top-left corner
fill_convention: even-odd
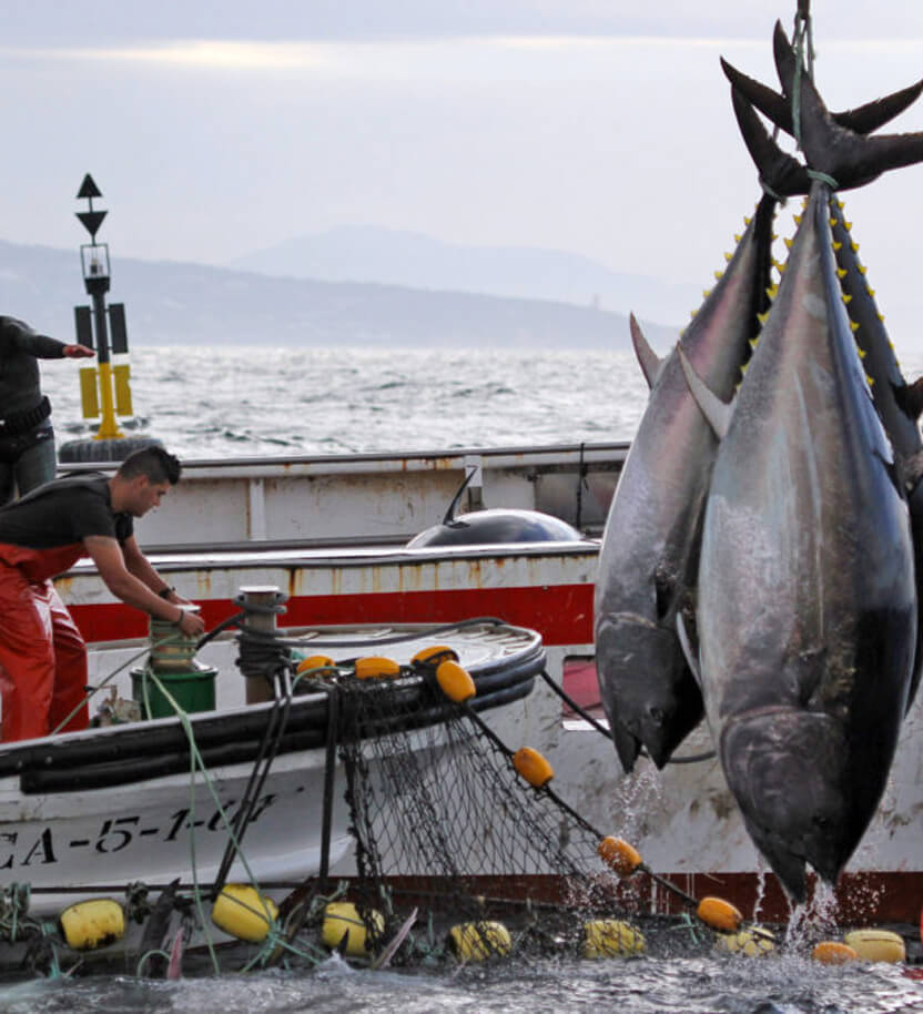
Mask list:
[[[83,178],[77,196],[89,203],[87,211],[77,212],[77,217],[90,233],[91,242],[80,247],[80,262],[92,306],[75,306],[74,324],[78,343],[95,349],[98,364],[80,371],[80,400],[83,418],[100,419],[100,425],[92,442],[64,444],[59,458],[61,462],[115,462],[132,450],[159,444],[160,440],[151,437],[125,438],[119,428],[116,417],[130,416],[133,410],[128,363],[112,363],[113,355],[123,355],[129,351],[125,307],[123,303],[105,305],[110,285],[109,244],[98,243],[97,232],[108,213],[93,207],[93,199],[101,197],[102,193],[89,173]]]

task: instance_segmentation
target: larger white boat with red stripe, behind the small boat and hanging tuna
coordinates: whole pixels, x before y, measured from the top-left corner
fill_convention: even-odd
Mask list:
[[[160,572],[200,606],[206,629],[237,611],[241,586],[267,585],[287,595],[285,623],[293,627],[497,617],[535,630],[549,679],[509,706],[515,746],[547,757],[557,792],[596,827],[632,842],[649,869],[690,895],[720,894],[748,916],[784,922],[792,907],[747,834],[704,724],[677,762],[658,772],[642,759],[631,777],[621,774],[606,734],[592,676],[592,590],[599,536],[627,450],[599,444],[187,462],[164,506],[139,524],[139,540]],[[68,470],[84,467],[101,466]],[[574,525],[580,537],[407,548],[444,518],[471,474],[468,510],[540,511]],[[91,655],[97,682],[111,670],[113,650],[129,652],[146,635],[143,617],[115,601],[90,564],[58,585],[88,641],[108,643]],[[221,647],[217,639],[211,650]],[[120,692],[130,696],[126,681]],[[919,712],[917,704],[906,718],[879,814],[838,885],[843,923],[919,920]],[[186,808],[176,802],[151,827],[168,835],[180,820],[170,823],[170,815]],[[213,814],[201,819],[207,825]],[[95,849],[101,827],[78,840]],[[136,829],[120,828],[114,842],[149,830],[140,819]],[[351,863],[347,851],[333,869],[346,874]],[[645,911],[677,909],[652,879],[636,879],[632,891]]]

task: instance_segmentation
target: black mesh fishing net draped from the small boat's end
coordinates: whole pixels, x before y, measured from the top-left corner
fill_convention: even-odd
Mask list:
[[[599,858],[599,832],[547,782],[530,784],[515,765],[523,751],[514,754],[437,687],[418,704],[429,718],[439,710],[436,723],[415,727],[405,707],[404,728],[376,734],[394,727],[389,712],[399,707],[384,689],[337,687],[338,758],[356,842],[348,896],[368,951],[379,952],[414,910],[414,932],[392,963],[591,950],[588,922],[623,911],[618,878]],[[610,947],[632,947],[621,927],[590,932],[615,932]]]

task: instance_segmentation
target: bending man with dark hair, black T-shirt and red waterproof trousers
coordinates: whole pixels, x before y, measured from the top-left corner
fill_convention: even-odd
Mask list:
[[[180,479],[163,447],[136,450],[106,479],[69,476],[0,509],[0,699],[2,741],[85,729],[87,646],[51,579],[90,557],[123,602],[172,620],[186,637],[202,618],[154,570],[134,538],[134,518],[158,507]],[[69,718],[70,716],[70,718]]]

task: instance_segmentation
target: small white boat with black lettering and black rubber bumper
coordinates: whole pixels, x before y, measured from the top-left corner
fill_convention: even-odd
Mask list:
[[[276,588],[244,588],[239,632],[199,655],[194,641],[163,637],[169,625],[156,621],[149,642],[93,645],[108,687],[94,726],[0,750],[6,930],[11,915],[58,925],[105,894],[113,911],[142,923],[149,899],[171,883],[200,900],[241,883],[266,904],[281,899],[326,876],[354,841],[336,753],[351,734],[337,707],[351,699],[341,697],[347,685],[374,710],[374,722],[352,728],[361,749],[405,733],[403,748],[435,764],[440,724],[457,707],[442,689],[442,662],[457,667],[449,678],[470,679],[471,712],[506,734],[545,667],[539,635],[496,619],[280,631],[284,601]],[[298,670],[292,645],[303,649]],[[125,941],[94,929],[92,910],[88,919],[64,934],[72,949],[111,957],[138,946],[138,932]],[[200,943],[203,923],[191,934]],[[239,935],[233,917],[204,933],[216,943]],[[0,947],[0,966],[21,959],[21,946]]]

